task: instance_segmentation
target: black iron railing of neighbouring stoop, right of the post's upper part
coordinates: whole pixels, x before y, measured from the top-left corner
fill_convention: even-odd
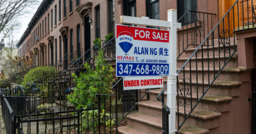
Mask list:
[[[200,45],[205,36],[212,30],[212,16],[215,15],[214,13],[189,10],[178,19],[177,22],[181,22],[182,27],[177,32],[177,59],[186,49]]]

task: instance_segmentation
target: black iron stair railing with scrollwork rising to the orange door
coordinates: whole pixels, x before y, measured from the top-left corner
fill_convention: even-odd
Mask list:
[[[246,4],[247,8],[244,8],[243,4]],[[211,31],[209,30],[207,36],[199,41],[191,56],[182,59],[185,63],[177,71],[177,130],[180,130],[235,55],[237,51],[235,32],[256,27],[253,0],[250,2],[245,0],[242,2],[242,7],[240,6],[236,0],[221,20]],[[239,10],[240,8],[242,10]]]

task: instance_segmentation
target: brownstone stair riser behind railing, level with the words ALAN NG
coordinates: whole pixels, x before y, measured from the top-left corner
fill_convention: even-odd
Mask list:
[[[221,48],[221,51],[222,51],[223,48]],[[226,51],[227,51],[228,48],[226,48]],[[218,48],[214,48],[214,56],[224,56],[224,52],[221,52],[219,53],[219,49]],[[229,53],[230,52],[230,53]],[[225,52],[225,55],[226,56],[229,56],[230,54],[232,54],[234,52],[234,47],[230,47],[230,51],[227,51]],[[185,52],[185,55],[186,57],[190,57],[192,54],[194,53],[194,51],[186,51]],[[209,55],[208,55],[209,54]],[[209,49],[209,50],[203,50],[203,57],[207,57],[207,55],[209,57],[212,57],[213,56],[213,49]],[[198,57],[202,57],[202,50],[198,50],[197,51],[197,56]]]

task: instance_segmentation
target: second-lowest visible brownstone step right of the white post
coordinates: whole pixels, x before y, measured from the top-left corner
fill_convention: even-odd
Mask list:
[[[176,114],[179,114],[179,118],[176,117],[176,121],[181,123],[184,120],[184,116],[187,116],[189,112],[190,109],[184,109],[183,107],[177,109]],[[194,109],[185,123],[186,125],[197,126],[209,130],[219,126],[220,116],[221,113]]]

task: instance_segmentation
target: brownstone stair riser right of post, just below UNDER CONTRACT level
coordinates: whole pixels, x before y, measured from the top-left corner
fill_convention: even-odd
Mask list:
[[[181,87],[181,88],[184,87],[183,84],[179,84],[178,86]],[[188,86],[189,85],[185,85],[185,87],[188,87]],[[204,91],[206,90],[207,87],[208,87],[208,85],[204,85]],[[198,84],[198,86],[196,86],[196,84],[192,84],[191,89],[192,89],[192,93],[198,92],[199,96],[201,96],[202,93],[203,93],[203,86],[201,84]],[[234,97],[234,96],[239,96],[240,91],[236,87],[226,88],[226,87],[211,86],[211,88],[209,88],[208,91],[206,92],[206,95]],[[150,97],[150,99],[151,99],[151,97]]]

